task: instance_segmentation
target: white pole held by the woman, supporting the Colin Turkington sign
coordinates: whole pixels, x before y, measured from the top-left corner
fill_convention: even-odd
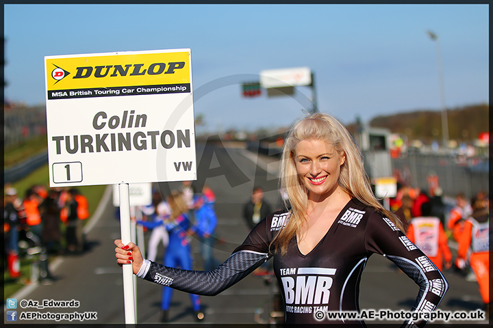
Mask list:
[[[120,229],[121,240],[123,245],[131,241],[131,224],[130,224],[130,193],[129,184],[118,184],[120,194]],[[135,290],[134,290],[134,272],[132,264],[123,264],[123,302],[125,305],[125,324],[136,324],[135,311]]]

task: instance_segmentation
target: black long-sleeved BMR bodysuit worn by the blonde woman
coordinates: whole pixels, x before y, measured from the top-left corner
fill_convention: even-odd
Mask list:
[[[318,320],[315,314],[320,311],[359,311],[359,281],[366,261],[374,253],[394,262],[419,285],[413,311],[435,310],[448,289],[433,262],[392,221],[358,200],[344,206],[327,234],[306,255],[299,251],[296,237],[285,255],[269,251],[270,241],[288,217],[289,213],[277,212],[260,221],[214,271],[185,271],[144,260],[138,276],[194,294],[217,295],[273,257],[286,305],[286,323],[301,324],[342,323]],[[362,321],[356,323],[364,325]],[[423,326],[426,321],[409,320],[405,324]]]

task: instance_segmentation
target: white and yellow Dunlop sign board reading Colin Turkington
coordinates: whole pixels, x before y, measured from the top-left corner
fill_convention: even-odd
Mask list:
[[[45,57],[50,187],[196,180],[190,49]]]

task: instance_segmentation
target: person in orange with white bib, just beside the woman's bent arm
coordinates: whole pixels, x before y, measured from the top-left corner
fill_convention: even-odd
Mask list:
[[[443,261],[445,269],[452,265],[452,252],[448,248],[448,238],[438,217],[431,216],[431,204],[421,205],[421,217],[414,217],[407,228],[407,238],[425,253],[431,262],[442,271]]]

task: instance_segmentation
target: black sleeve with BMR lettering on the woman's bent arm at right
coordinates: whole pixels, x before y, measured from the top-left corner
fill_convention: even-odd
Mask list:
[[[366,226],[365,243],[368,251],[385,256],[418,284],[413,312],[433,312],[438,308],[448,289],[445,277],[392,221],[372,213]],[[423,327],[426,323],[427,320],[409,320],[403,326]]]

